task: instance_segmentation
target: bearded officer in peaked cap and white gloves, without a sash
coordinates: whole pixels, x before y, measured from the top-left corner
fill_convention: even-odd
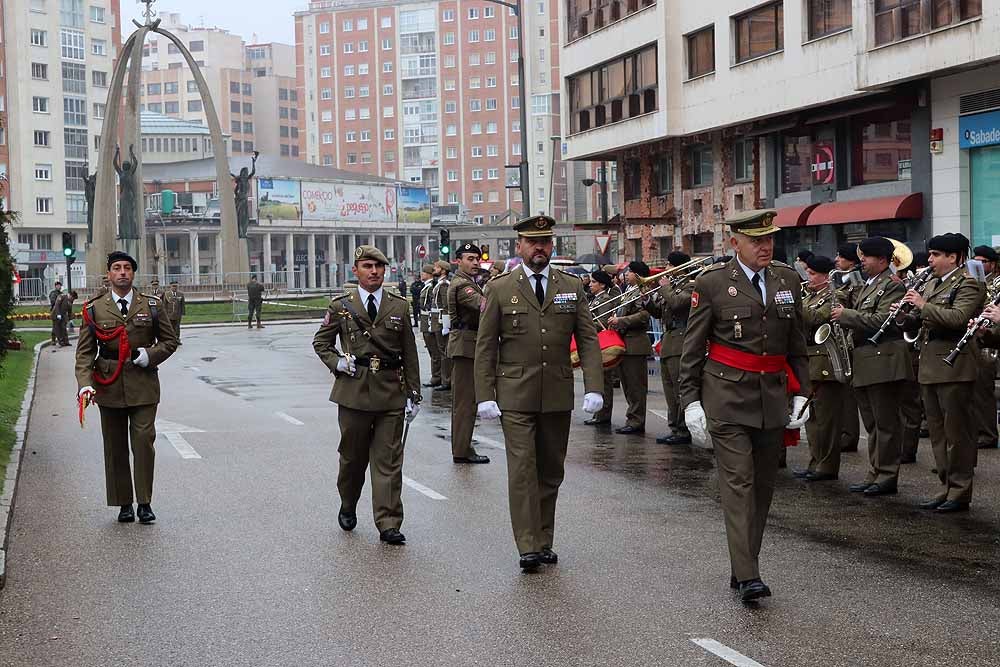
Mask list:
[[[583,285],[549,265],[554,226],[547,215],[514,225],[523,264],[490,282],[476,339],[478,413],[503,427],[511,524],[525,571],[558,561],[552,547],[573,410],[572,336],[583,410],[601,409],[597,330]]]

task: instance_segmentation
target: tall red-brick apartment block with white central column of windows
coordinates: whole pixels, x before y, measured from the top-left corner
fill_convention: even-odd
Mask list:
[[[520,162],[525,131],[527,208],[566,220],[567,182],[586,173],[561,162],[558,12],[557,0],[523,3],[522,93],[507,7],[310,2],[295,14],[302,157],[427,188],[437,221],[497,223],[522,209],[507,167]]]

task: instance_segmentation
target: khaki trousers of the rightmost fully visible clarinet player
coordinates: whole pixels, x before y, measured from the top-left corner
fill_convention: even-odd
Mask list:
[[[972,501],[972,475],[976,464],[975,408],[970,399],[975,382],[920,385],[927,409],[934,463],[942,488],[939,500]]]

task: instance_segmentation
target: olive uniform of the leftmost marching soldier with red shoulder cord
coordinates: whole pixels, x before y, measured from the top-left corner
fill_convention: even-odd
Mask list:
[[[177,349],[177,338],[160,299],[132,290],[127,316],[122,315],[117,299],[114,292],[108,292],[83,307],[98,329],[110,331],[124,324],[129,346],[133,351],[146,348],[149,365],[141,368],[125,361],[114,382],[100,384],[94,373],[104,378],[114,374],[118,366],[119,341],[101,342],[91,327],[81,326],[76,346],[76,381],[80,389],[90,386],[96,390],[94,402],[101,412],[108,505],[120,507],[130,505],[133,500],[148,505],[153,497],[156,458],[153,442],[156,440],[156,407],[160,402],[158,370]],[[129,441],[134,476],[129,466]]]

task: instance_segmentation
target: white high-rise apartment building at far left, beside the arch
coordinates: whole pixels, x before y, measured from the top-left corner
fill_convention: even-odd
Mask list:
[[[5,205],[20,213],[24,278],[65,273],[61,236],[87,238],[83,178],[97,162],[108,85],[121,43],[119,0],[3,2],[0,145]],[[89,165],[89,167],[88,167]]]

